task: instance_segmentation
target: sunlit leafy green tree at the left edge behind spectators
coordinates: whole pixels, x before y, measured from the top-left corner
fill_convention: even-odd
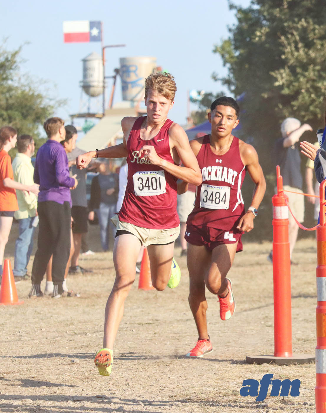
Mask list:
[[[10,125],[19,134],[32,135],[35,146],[43,144],[40,126],[65,101],[46,97],[30,76],[20,73],[22,47],[9,51],[0,45],[0,126]]]

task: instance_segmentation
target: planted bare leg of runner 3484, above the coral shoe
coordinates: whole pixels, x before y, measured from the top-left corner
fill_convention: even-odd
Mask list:
[[[205,273],[208,271],[212,253],[204,246],[188,244],[187,266],[189,271],[189,306],[194,316],[198,337],[208,339],[205,297]]]

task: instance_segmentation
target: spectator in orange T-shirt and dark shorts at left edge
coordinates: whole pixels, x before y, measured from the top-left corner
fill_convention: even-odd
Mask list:
[[[8,242],[14,211],[18,211],[16,189],[33,192],[38,195],[38,185],[24,185],[14,181],[9,150],[17,142],[17,131],[11,126],[0,129],[0,274],[5,246]]]

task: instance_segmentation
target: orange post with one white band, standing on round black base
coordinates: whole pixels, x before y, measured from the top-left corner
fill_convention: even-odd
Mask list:
[[[276,167],[277,194],[273,203],[274,356],[292,357],[291,259],[288,207],[283,178]]]

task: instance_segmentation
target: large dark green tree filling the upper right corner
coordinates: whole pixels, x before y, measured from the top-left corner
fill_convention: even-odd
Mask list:
[[[229,38],[214,49],[228,75],[213,78],[234,96],[243,95],[241,127],[243,136],[253,142],[269,183],[263,204],[268,210],[275,185],[271,154],[281,121],[293,116],[314,131],[324,126],[324,5],[322,0],[252,0],[244,8],[229,2],[237,23],[229,28]],[[302,138],[316,140],[308,134]]]

